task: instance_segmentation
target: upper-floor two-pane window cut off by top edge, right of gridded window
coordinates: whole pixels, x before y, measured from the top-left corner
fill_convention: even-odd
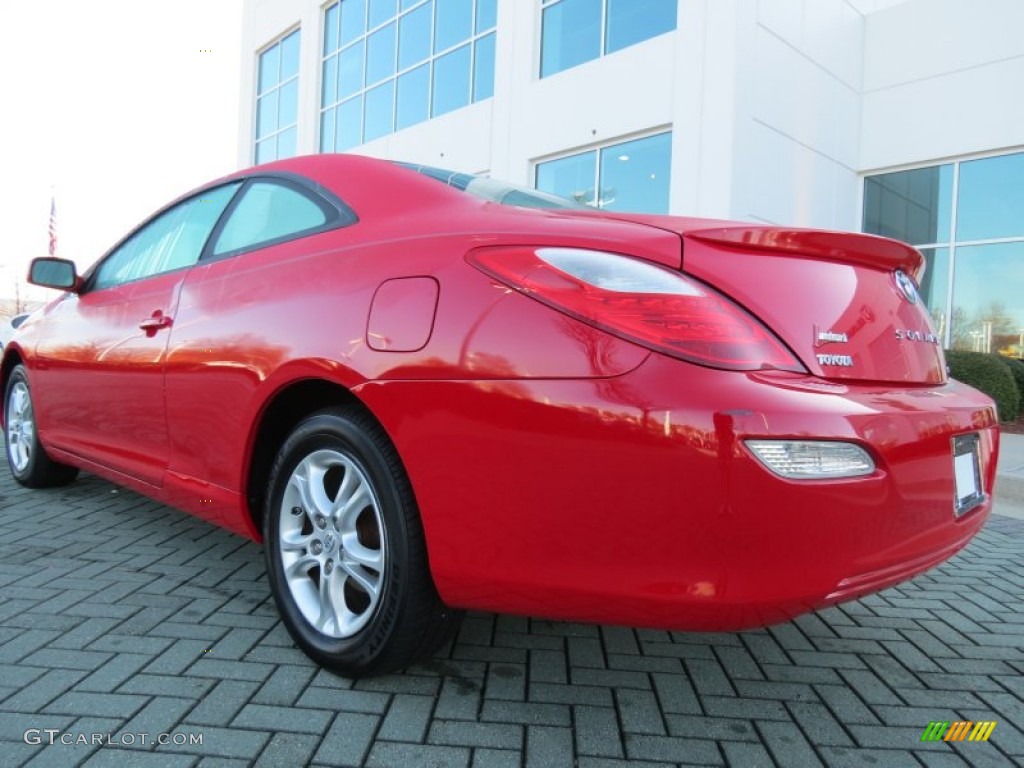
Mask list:
[[[541,0],[541,77],[676,29],[679,0]]]

